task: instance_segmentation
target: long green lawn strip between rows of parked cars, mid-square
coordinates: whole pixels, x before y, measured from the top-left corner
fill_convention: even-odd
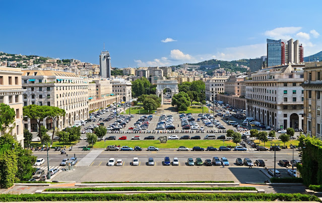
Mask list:
[[[127,139],[131,139],[133,136],[137,134],[129,135],[127,136]],[[141,139],[144,139],[144,136],[141,136]],[[161,144],[160,141],[157,139],[158,136],[161,135],[155,135],[155,140],[106,140],[105,145],[104,141],[98,141],[94,144],[94,148],[104,148],[104,146],[107,145],[120,145],[120,146],[141,146],[142,148],[147,148],[148,146],[155,146],[158,148],[178,148],[179,146],[185,146],[188,148],[192,148],[194,146],[200,146],[203,148],[207,148],[207,146],[214,146],[214,147],[220,147],[223,145],[222,140],[168,140],[167,143]],[[231,145],[236,146],[235,143],[233,143],[231,140],[225,141],[225,146]]]

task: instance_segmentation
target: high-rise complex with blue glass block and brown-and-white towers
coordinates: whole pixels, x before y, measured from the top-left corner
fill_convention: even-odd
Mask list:
[[[289,62],[298,64],[304,62],[304,50],[298,40],[267,39],[267,65],[279,66]]]

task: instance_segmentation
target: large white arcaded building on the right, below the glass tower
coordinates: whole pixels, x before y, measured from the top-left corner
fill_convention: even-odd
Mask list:
[[[262,69],[246,83],[246,115],[274,129],[302,128],[304,64]]]

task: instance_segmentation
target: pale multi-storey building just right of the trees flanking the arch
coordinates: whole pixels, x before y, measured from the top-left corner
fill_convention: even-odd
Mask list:
[[[206,80],[206,100],[217,100],[217,94],[225,92],[224,82],[228,78],[227,76],[217,76]]]

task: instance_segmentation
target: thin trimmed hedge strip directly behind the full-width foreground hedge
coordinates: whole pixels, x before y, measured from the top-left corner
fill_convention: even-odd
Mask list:
[[[164,190],[256,190],[255,187],[85,187],[47,188],[44,191],[164,191]]]

